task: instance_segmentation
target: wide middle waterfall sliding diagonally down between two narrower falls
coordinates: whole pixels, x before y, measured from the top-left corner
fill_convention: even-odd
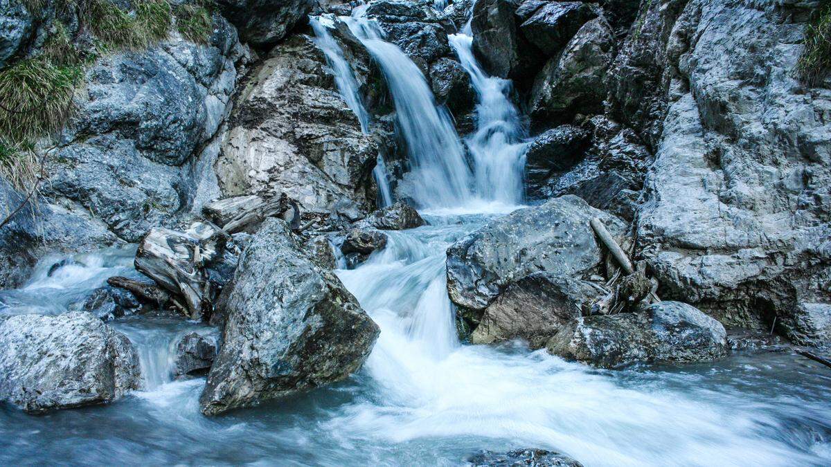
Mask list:
[[[411,197],[429,208],[467,204],[473,198],[472,175],[450,113],[436,105],[430,86],[410,57],[381,38],[383,32],[376,22],[366,17],[342,19],[386,76],[411,163],[406,180]]]

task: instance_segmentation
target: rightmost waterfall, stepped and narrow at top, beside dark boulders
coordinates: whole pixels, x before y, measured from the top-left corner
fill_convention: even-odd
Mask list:
[[[467,140],[475,166],[476,193],[484,199],[519,204],[523,199],[526,134],[519,112],[510,101],[511,82],[487,76],[473,56],[473,37],[448,36],[470,75],[477,96],[477,129]]]

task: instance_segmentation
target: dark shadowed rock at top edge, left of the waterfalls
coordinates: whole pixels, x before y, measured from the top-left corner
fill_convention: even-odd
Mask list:
[[[314,0],[217,0],[219,10],[244,42],[268,46],[278,42],[312,10]]]

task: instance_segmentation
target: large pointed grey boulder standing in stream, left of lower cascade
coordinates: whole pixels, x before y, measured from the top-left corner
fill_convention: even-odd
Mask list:
[[[224,314],[223,345],[199,398],[206,415],[340,381],[360,368],[379,333],[278,219],[248,243],[225,288]]]

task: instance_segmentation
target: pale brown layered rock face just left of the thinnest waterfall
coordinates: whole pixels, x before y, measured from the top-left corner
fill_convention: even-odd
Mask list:
[[[250,75],[215,167],[228,196],[282,191],[302,212],[329,213],[339,201],[366,211],[378,149],[338,94],[323,52],[301,34]]]

